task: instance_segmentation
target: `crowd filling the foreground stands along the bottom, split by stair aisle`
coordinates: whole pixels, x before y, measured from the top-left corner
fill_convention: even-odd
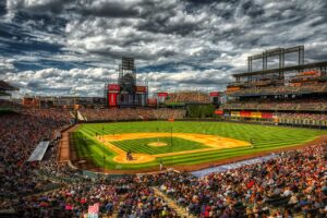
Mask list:
[[[266,162],[196,178],[174,171],[80,182],[15,202],[20,215],[78,217],[99,204],[100,216],[177,217],[150,186],[195,217],[326,217],[323,145],[281,153]],[[326,148],[325,148],[326,149]],[[274,208],[274,209],[271,209]]]

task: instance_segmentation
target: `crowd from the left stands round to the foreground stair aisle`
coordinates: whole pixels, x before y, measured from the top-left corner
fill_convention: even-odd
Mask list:
[[[19,217],[80,217],[98,204],[110,217],[175,217],[154,190],[134,182],[135,177],[94,180],[56,160],[58,144],[49,158],[27,162],[38,142],[70,123],[68,110],[26,109],[0,117],[0,214],[13,209]],[[49,191],[49,192],[46,192]],[[45,194],[43,194],[45,193]]]

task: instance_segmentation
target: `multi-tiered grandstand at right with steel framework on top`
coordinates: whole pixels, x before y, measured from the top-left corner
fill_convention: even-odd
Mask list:
[[[296,52],[298,64],[284,66],[284,53]],[[267,69],[278,56],[279,68]],[[263,70],[252,71],[262,59]],[[228,119],[287,125],[327,126],[327,61],[305,63],[304,47],[278,48],[249,57],[249,72],[234,74],[222,106]]]

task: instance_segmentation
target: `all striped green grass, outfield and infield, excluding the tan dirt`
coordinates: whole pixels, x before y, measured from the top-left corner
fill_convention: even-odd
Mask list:
[[[327,131],[311,129],[293,129],[284,126],[265,126],[256,124],[228,123],[228,122],[117,122],[117,123],[92,123],[82,124],[72,135],[77,155],[83,158],[90,158],[95,165],[102,166],[102,156],[105,152],[105,167],[107,169],[145,169],[158,167],[159,159],[138,165],[121,165],[112,161],[116,154],[106,147],[104,148],[98,141],[94,140],[97,135],[137,133],[137,132],[166,132],[170,133],[201,133],[220,135],[249,142],[253,140],[254,148],[238,147],[220,149],[214,152],[199,152],[194,154],[184,154],[178,156],[160,158],[166,166],[175,165],[195,165],[206,161],[222,160],[232,157],[249,155],[264,150],[284,148],[294,145],[301,145],[310,142],[319,135],[327,134]],[[155,141],[154,141],[155,140]],[[164,138],[161,138],[164,140]],[[161,141],[160,140],[160,141]],[[170,137],[166,138],[170,144]],[[133,149],[133,153],[164,154],[171,152],[181,152],[197,149],[204,145],[196,142],[185,142],[186,140],[173,137],[173,149],[171,146],[152,147],[146,145],[147,142],[156,142],[156,138],[142,138],[132,141],[114,142],[122,149]]]

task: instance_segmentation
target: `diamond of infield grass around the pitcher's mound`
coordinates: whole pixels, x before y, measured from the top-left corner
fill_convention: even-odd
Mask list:
[[[149,143],[156,143],[157,140],[161,143],[166,143],[167,146],[155,147],[148,145]],[[121,149],[132,153],[144,153],[148,155],[158,155],[166,153],[175,153],[183,150],[193,150],[207,148],[201,143],[189,141],[180,137],[150,137],[150,138],[138,138],[138,140],[126,140],[112,142],[113,145],[120,147]]]

